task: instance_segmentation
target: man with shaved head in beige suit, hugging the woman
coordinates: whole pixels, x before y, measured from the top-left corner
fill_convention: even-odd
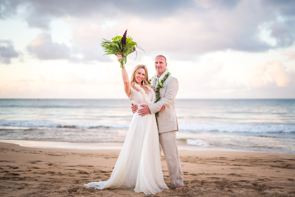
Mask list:
[[[175,96],[178,91],[178,81],[175,77],[169,75],[163,82],[163,79],[168,73],[166,58],[163,55],[158,55],[155,58],[155,69],[157,76],[152,78],[151,84],[160,84],[160,100],[157,103],[150,105],[141,105],[143,108],[138,109],[137,105],[132,105],[132,111],[145,116],[146,114],[154,114],[159,111],[158,116],[158,129],[159,129],[159,141],[165,155],[167,162],[169,178],[172,184],[172,188],[181,190],[183,188],[183,174],[181,171],[181,164],[178,154],[178,148],[176,143],[176,131],[178,131],[178,124],[175,114]],[[160,82],[160,83],[159,83]],[[164,106],[165,110],[160,111]]]

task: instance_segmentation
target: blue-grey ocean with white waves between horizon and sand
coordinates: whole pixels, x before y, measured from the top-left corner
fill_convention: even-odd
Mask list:
[[[180,150],[295,154],[295,99],[176,99]],[[126,99],[0,99],[0,142],[120,149]]]

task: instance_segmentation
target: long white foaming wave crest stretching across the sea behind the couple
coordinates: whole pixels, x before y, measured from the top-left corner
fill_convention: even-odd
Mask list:
[[[0,120],[0,126],[9,127],[48,127],[48,128],[82,128],[91,129],[99,127],[128,128],[129,124],[120,123],[65,123],[40,120],[7,121]],[[242,133],[293,133],[295,124],[279,123],[215,123],[215,122],[178,122],[181,131],[207,131],[207,132],[242,132]]]

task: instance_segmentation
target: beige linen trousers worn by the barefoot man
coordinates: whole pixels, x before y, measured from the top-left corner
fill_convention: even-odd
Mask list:
[[[183,186],[183,174],[178,154],[176,131],[164,132],[159,135],[161,147],[167,162],[169,178],[172,188]]]

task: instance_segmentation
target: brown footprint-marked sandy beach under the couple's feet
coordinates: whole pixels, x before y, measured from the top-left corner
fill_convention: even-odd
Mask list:
[[[145,196],[126,189],[97,190],[108,180],[119,150],[67,150],[0,143],[0,196]],[[180,151],[183,190],[150,196],[295,196],[295,155]],[[171,188],[165,158],[165,183]]]

